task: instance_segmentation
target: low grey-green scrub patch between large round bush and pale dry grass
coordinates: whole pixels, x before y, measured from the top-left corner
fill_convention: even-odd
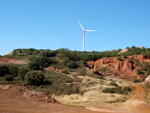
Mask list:
[[[73,91],[73,87],[70,85],[66,85],[66,83],[71,83],[74,81],[73,79],[69,78],[67,75],[62,75],[60,73],[54,73],[51,72],[48,75],[45,76],[45,79],[49,81],[49,83],[45,83],[44,88],[39,88],[40,91],[43,91],[47,94],[55,94],[55,95],[61,95],[61,94],[72,94],[76,93]]]

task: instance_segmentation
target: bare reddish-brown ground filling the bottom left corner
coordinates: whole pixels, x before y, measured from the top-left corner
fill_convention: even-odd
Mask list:
[[[21,86],[0,89],[0,113],[98,113],[84,108],[39,102],[23,97]]]

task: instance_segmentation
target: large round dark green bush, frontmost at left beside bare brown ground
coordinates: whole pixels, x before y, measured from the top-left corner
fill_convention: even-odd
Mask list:
[[[29,71],[25,75],[25,83],[28,85],[41,85],[44,79],[45,77],[41,71]]]

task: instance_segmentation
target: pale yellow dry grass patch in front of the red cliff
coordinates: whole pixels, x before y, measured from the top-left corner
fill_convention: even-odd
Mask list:
[[[119,86],[122,87],[129,86],[130,82],[128,81],[115,78],[112,79],[112,81],[110,81],[109,78],[107,80],[101,80],[87,76],[81,76],[81,79],[82,82],[79,85],[80,90],[84,91],[83,95],[80,94],[60,95],[60,96],[53,95],[53,98],[67,105],[86,106],[88,104],[95,104],[95,103],[113,103],[125,101],[129,97],[129,95],[122,95],[116,93],[114,94],[102,93],[102,90],[105,88],[115,87],[109,85],[112,81],[115,81]]]

